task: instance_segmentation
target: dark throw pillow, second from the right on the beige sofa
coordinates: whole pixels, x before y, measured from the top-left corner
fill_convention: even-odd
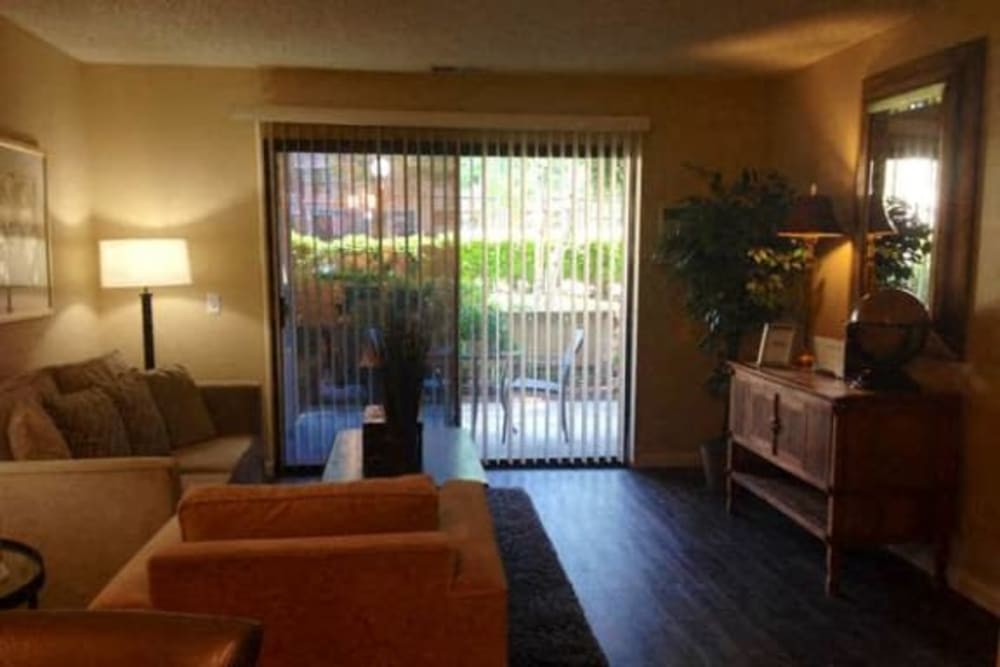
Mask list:
[[[115,382],[100,385],[118,409],[133,456],[169,456],[170,436],[156,407],[146,378],[136,369],[120,374]]]

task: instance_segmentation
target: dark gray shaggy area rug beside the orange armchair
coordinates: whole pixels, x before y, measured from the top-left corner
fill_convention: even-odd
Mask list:
[[[487,499],[507,573],[510,664],[607,665],[531,498],[493,488]]]

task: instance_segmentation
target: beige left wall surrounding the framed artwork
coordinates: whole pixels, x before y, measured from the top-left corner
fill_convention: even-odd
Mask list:
[[[83,66],[0,20],[0,136],[48,160],[55,313],[0,324],[0,378],[96,353],[99,347]]]

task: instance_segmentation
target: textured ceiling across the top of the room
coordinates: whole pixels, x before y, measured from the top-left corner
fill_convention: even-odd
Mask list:
[[[88,62],[709,72],[801,67],[922,0],[0,0]]]

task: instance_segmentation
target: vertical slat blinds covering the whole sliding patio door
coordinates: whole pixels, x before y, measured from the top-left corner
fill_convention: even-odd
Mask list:
[[[285,465],[378,400],[365,341],[416,314],[426,423],[492,463],[623,457],[635,132],[263,123]]]

